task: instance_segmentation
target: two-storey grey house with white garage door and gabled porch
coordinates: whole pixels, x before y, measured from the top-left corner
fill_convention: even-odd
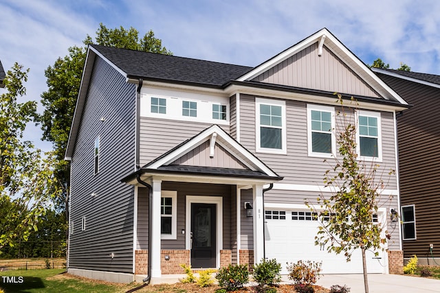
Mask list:
[[[387,183],[378,222],[391,241],[369,272],[398,272],[396,114],[408,104],[328,30],[256,67],[89,46],[66,158],[72,164],[68,271],[132,281],[258,263],[322,261],[305,205],[339,156],[338,92],[358,100],[362,159]],[[327,160],[327,163],[323,163]],[[148,267],[151,270],[148,270]]]

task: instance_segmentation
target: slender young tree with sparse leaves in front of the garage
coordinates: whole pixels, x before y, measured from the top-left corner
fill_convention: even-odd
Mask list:
[[[361,250],[365,292],[369,292],[365,252],[382,249],[389,237],[383,226],[373,222],[379,207],[378,189],[384,188],[384,181],[375,178],[378,165],[366,165],[358,158],[355,115],[347,115],[341,95],[338,95],[338,102],[342,111],[337,118],[342,126],[337,128],[336,140],[342,159],[335,158],[335,165],[325,172],[324,178],[325,187],[332,194],[329,198],[322,194],[318,197],[319,211],[313,204],[307,204],[320,215],[316,245],[326,247],[329,253],[344,253],[347,261],[351,260],[353,250]],[[386,233],[385,237],[382,232]]]

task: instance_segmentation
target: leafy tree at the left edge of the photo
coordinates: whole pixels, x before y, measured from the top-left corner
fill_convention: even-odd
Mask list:
[[[28,71],[14,64],[6,73],[0,96],[0,249],[27,240],[36,223],[59,195],[52,172],[54,157],[22,141],[26,123],[36,115],[36,102],[19,103]]]

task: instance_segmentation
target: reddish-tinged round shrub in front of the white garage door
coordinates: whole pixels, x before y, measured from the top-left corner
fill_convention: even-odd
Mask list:
[[[289,280],[295,284],[311,285],[319,279],[321,264],[314,261],[298,261],[287,265]]]

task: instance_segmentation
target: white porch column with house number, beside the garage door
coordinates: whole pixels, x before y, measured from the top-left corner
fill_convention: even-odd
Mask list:
[[[263,185],[252,185],[254,200],[254,263],[264,257]]]

